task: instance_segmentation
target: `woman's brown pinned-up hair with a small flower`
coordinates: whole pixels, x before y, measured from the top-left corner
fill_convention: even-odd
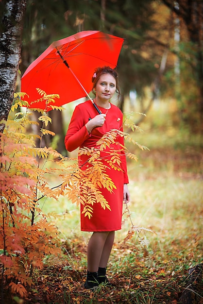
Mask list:
[[[103,74],[110,74],[115,78],[115,80],[116,80],[116,92],[118,93],[118,97],[119,97],[120,96],[120,89],[119,89],[119,85],[118,85],[118,73],[115,69],[110,68],[110,67],[95,68],[95,73],[92,77],[92,83],[93,83],[92,93],[96,96],[95,88],[96,88],[96,85],[98,83],[98,80],[100,79],[100,76],[103,75]]]

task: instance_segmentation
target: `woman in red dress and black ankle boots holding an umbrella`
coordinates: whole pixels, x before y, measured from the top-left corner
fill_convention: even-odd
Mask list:
[[[122,131],[122,112],[110,99],[114,93],[119,93],[118,74],[116,70],[103,67],[95,69],[92,77],[95,94],[94,102],[101,111],[98,115],[92,101],[85,101],[76,106],[68,131],[65,137],[66,149],[71,152],[76,148],[95,148],[98,140],[112,129]],[[106,266],[114,242],[115,231],[121,229],[122,204],[128,203],[130,193],[128,190],[128,176],[126,167],[123,137],[119,134],[114,143],[111,144],[111,151],[119,154],[120,168],[115,170],[106,169],[106,173],[112,179],[116,188],[113,192],[102,187],[99,188],[104,199],[108,202],[110,209],[101,207],[100,202],[93,204],[93,214],[89,219],[83,213],[84,205],[81,204],[81,230],[93,232],[87,247],[87,278],[85,288],[94,288],[104,283],[111,285],[106,277]],[[109,148],[103,150],[103,163],[109,159]],[[112,155],[111,155],[112,156]],[[110,156],[110,157],[111,157]],[[88,166],[87,155],[81,154],[78,157],[79,166],[85,170]]]

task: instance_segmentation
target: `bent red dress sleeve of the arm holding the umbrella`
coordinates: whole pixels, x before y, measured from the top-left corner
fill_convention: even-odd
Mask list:
[[[65,147],[69,152],[80,147],[90,136],[85,127],[86,122],[80,107],[76,106],[65,136]]]

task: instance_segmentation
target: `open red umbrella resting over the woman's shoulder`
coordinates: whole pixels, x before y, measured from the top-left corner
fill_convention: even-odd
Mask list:
[[[31,108],[45,110],[45,101],[32,103],[40,98],[36,88],[47,94],[59,94],[54,105],[82,97],[89,97],[91,79],[97,67],[116,68],[123,38],[100,31],[83,31],[54,41],[26,69],[21,78],[21,92],[29,95]],[[47,111],[51,107],[47,107]]]

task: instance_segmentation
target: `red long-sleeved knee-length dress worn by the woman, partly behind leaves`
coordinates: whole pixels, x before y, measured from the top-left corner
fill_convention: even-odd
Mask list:
[[[100,110],[103,114],[107,111],[101,107]],[[97,141],[106,132],[109,132],[112,129],[122,131],[122,112],[117,106],[111,104],[111,108],[107,111],[106,120],[103,126],[94,128],[89,135],[86,130],[85,123],[88,122],[89,118],[94,118],[96,115],[98,115],[98,113],[91,101],[85,101],[75,107],[65,137],[65,146],[69,152],[78,147],[96,147]],[[123,145],[123,137],[117,136],[116,141]],[[119,150],[120,146],[118,144],[113,144],[113,148],[115,150]],[[103,153],[105,153],[105,151]],[[86,157],[86,155],[79,156],[79,164],[84,164]],[[89,219],[87,216],[85,217],[85,215],[82,214],[83,205],[81,204],[82,231],[115,231],[121,229],[123,184],[128,184],[126,157],[124,151],[120,152],[120,159],[122,170],[106,169],[106,173],[114,182],[116,189],[114,189],[113,193],[110,193],[105,188],[99,188],[102,195],[109,203],[111,210],[108,210],[107,208],[104,210],[100,203],[94,203],[93,215]],[[82,168],[85,169],[85,166]]]

